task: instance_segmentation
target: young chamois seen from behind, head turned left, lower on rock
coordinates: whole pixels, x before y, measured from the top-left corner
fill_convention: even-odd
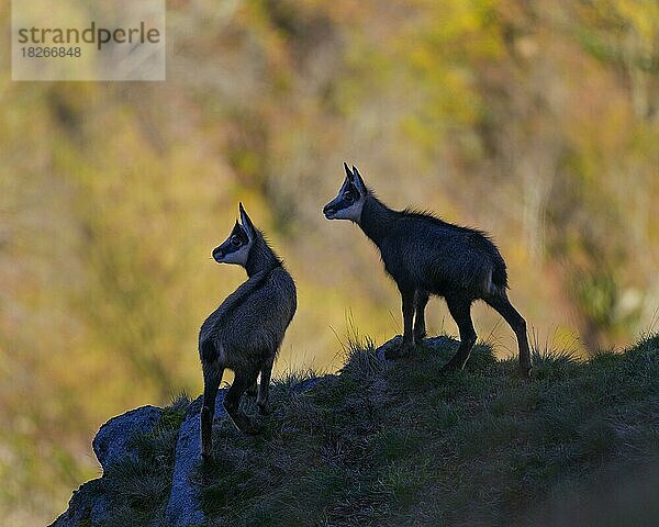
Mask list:
[[[220,264],[237,264],[247,271],[241,284],[205,319],[199,332],[199,356],[203,369],[201,410],[201,452],[211,456],[215,397],[224,369],[235,379],[224,397],[224,407],[236,427],[245,434],[258,434],[259,426],[241,411],[243,393],[258,385],[257,406],[266,413],[272,363],[297,307],[295,284],[264,235],[239,205],[228,238],[213,250]]]

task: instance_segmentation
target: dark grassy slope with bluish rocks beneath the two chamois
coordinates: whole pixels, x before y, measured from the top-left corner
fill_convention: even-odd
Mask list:
[[[659,337],[588,361],[536,352],[530,380],[487,345],[443,377],[456,347],[388,363],[350,344],[337,375],[277,381],[256,438],[221,392],[209,463],[200,399],[127,412],[93,440],[102,478],[53,525],[656,525]]]

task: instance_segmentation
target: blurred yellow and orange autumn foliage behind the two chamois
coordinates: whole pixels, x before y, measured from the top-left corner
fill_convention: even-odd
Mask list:
[[[392,206],[489,231],[540,340],[588,352],[656,323],[656,1],[171,0],[167,16],[166,82],[12,82],[0,52],[4,525],[65,508],[107,418],[199,392],[199,324],[244,279],[209,259],[238,200],[299,287],[279,371],[336,368],[347,316],[399,332],[376,251],[320,212],[344,160]]]

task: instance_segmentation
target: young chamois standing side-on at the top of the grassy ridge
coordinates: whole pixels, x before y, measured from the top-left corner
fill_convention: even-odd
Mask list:
[[[445,371],[462,369],[476,344],[471,304],[482,300],[510,324],[520,347],[520,372],[528,375],[530,354],[526,322],[510,303],[505,262],[483,233],[453,225],[432,214],[393,211],[366,187],[357,168],[344,162],[346,179],[325,205],[327,220],[350,220],[378,246],[384,269],[403,302],[403,346],[387,358],[404,357],[426,335],[424,310],[431,294],[444,296],[460,332],[457,354]],[[414,316],[416,313],[416,317]]]

